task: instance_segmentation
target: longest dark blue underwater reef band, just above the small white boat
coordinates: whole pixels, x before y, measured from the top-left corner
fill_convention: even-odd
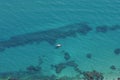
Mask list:
[[[0,51],[4,51],[6,48],[22,46],[34,42],[38,43],[46,41],[49,44],[54,45],[58,39],[73,37],[76,34],[86,35],[91,30],[92,28],[86,23],[76,23],[47,31],[16,35],[8,40],[0,41]]]

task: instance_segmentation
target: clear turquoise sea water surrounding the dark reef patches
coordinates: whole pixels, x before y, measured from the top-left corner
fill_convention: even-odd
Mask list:
[[[60,74],[51,68],[51,64],[66,62],[64,50],[83,71],[103,72],[106,80],[120,77],[120,55],[114,54],[114,50],[120,48],[120,30],[95,32],[97,26],[120,25],[119,8],[119,0],[0,0],[0,41],[37,31],[69,28],[71,24],[82,22],[93,29],[87,35],[58,38],[56,44],[62,44],[59,49],[46,41],[7,48],[0,52],[0,72],[24,71],[30,65],[38,65],[40,58],[43,74],[75,76],[77,73],[71,67]],[[87,53],[92,54],[92,59],[86,58]],[[111,70],[111,65],[117,70]]]

